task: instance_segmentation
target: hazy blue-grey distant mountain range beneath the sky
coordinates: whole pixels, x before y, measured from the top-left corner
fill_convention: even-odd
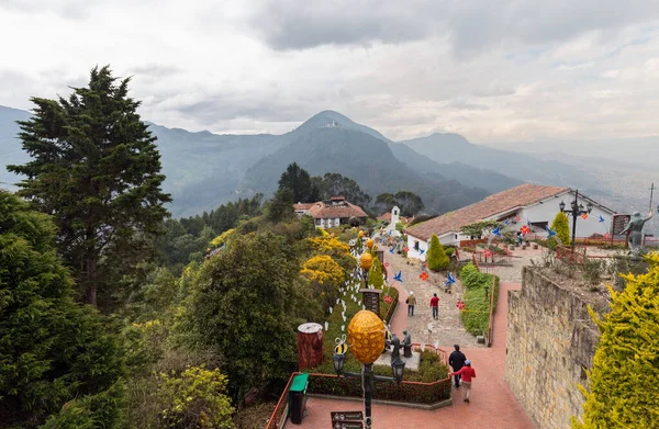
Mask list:
[[[27,117],[29,112],[0,106],[2,182],[18,181],[5,165],[27,160],[15,138],[15,121]],[[602,185],[601,171],[574,160],[473,145],[459,134],[392,142],[333,111],[321,112],[283,135],[217,135],[149,125],[158,137],[165,190],[174,196],[175,216],[210,211],[256,192],[270,195],[293,161],[313,176],[338,172],[355,179],[373,199],[381,192],[415,192],[426,212],[436,214],[526,181],[578,187],[614,210],[625,204],[622,194]]]

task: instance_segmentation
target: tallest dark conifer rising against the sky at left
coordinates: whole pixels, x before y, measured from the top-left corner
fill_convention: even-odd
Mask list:
[[[159,233],[170,201],[160,185],[156,138],[110,68],[91,70],[89,88],[68,99],[33,98],[34,116],[20,122],[23,149],[32,160],[9,170],[24,174],[20,195],[52,214],[59,251],[74,270],[89,304],[97,303],[103,261],[132,266],[148,237]]]

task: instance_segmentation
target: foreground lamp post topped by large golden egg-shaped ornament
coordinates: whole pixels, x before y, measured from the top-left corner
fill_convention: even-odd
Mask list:
[[[348,341],[353,355],[361,363],[361,373],[347,372],[343,370],[345,353],[348,346],[343,340],[337,339],[337,346],[334,348],[334,370],[338,376],[350,379],[360,379],[364,388],[364,426],[371,429],[371,402],[373,397],[375,382],[395,382],[400,384],[403,381],[405,362],[396,357],[391,362],[393,376],[382,376],[373,374],[373,362],[380,357],[384,349],[384,324],[373,313],[368,309],[358,312],[348,325]],[[344,337],[345,339],[345,337]],[[400,346],[399,346],[400,347]]]

